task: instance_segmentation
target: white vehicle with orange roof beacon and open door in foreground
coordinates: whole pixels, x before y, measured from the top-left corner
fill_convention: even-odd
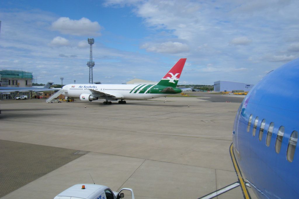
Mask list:
[[[129,190],[131,194],[125,197],[123,191]],[[132,189],[123,188],[119,192],[112,192],[107,186],[99,184],[76,184],[55,196],[54,199],[120,199],[134,198]]]

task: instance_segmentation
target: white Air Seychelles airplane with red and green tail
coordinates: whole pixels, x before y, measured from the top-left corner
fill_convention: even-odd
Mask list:
[[[112,104],[109,100],[152,99],[182,92],[176,88],[186,58],[181,58],[157,84],[68,84],[62,87],[62,95],[80,98],[81,101],[106,99],[104,104]]]

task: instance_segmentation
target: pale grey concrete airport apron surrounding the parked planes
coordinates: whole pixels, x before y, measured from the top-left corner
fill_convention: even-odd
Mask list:
[[[0,101],[0,140],[89,152],[3,198],[54,198],[76,183],[92,183],[90,175],[95,183],[113,191],[132,188],[137,199],[200,198],[237,182],[230,145],[242,98],[188,94],[197,97],[127,100],[127,104],[112,105],[101,101]],[[219,99],[223,102],[213,102]],[[225,103],[232,100],[237,103]],[[43,161],[37,152],[34,157]],[[14,153],[10,156],[19,158]],[[38,162],[33,167],[39,167]],[[248,191],[255,198],[250,188]],[[243,194],[237,187],[217,198],[243,198]]]

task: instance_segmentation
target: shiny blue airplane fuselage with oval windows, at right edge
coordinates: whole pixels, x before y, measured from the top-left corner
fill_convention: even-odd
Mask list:
[[[299,198],[299,58],[269,72],[240,105],[239,166],[258,198]]]

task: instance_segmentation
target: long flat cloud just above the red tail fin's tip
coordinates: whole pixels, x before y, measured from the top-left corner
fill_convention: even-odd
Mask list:
[[[189,51],[189,47],[187,44],[172,41],[167,41],[164,43],[145,43],[141,45],[140,48],[146,49],[148,52],[168,54],[177,54]]]

